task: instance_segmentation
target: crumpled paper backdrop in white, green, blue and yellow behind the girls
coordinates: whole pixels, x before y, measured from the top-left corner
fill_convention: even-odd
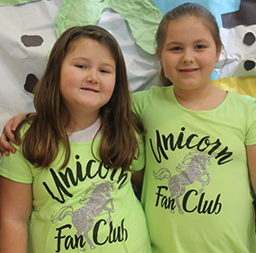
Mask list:
[[[163,14],[181,0],[0,0],[0,130],[14,115],[33,111],[33,90],[50,48],[68,27],[98,24],[118,39],[130,91],[158,84],[154,34]],[[225,49],[212,83],[256,97],[256,1],[200,0],[219,25]],[[225,65],[224,65],[225,64]]]

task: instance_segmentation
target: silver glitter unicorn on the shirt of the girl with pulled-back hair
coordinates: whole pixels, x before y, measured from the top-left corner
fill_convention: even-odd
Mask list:
[[[191,185],[196,180],[202,184],[202,187],[199,189],[199,194],[205,188],[205,185],[208,185],[210,182],[209,172],[207,171],[207,165],[210,165],[211,157],[215,155],[208,155],[207,153],[189,153],[187,154],[183,161],[175,168],[180,174],[171,176],[170,170],[162,168],[158,172],[154,172],[155,179],[168,179],[169,180],[169,190],[171,192],[171,199],[174,198],[176,205],[178,206],[179,213],[183,214],[179,198],[184,195],[186,186]],[[207,180],[205,181],[201,177],[207,175]],[[171,210],[171,213],[174,211]]]

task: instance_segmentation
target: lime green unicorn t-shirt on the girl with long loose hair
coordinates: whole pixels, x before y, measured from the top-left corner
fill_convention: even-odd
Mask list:
[[[95,140],[94,150],[100,141],[101,137]],[[19,147],[15,154],[4,155],[0,174],[32,183],[31,253],[151,252],[146,217],[133,192],[131,173],[96,161],[91,144],[70,143],[71,157],[64,170],[58,170],[59,162],[49,170],[33,168]],[[59,158],[61,154],[56,161]],[[144,160],[135,161],[135,166],[142,169]]]

